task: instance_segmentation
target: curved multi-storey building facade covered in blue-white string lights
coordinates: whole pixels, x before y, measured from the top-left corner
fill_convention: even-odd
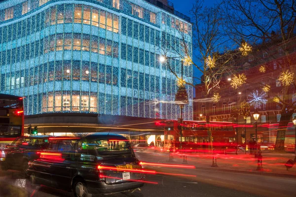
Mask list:
[[[192,51],[190,19],[166,0],[6,0],[0,3],[0,93],[25,115],[97,113],[177,119],[176,77],[163,39]],[[181,51],[182,52],[182,51]],[[192,53],[192,52],[191,52]],[[181,75],[181,59],[170,60]],[[184,77],[192,81],[192,67]],[[185,119],[193,119],[192,87]]]

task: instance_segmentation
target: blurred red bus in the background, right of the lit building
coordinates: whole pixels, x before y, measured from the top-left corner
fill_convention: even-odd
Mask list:
[[[212,145],[216,153],[235,152],[237,148],[236,132],[233,123],[206,121],[177,121],[165,123],[165,149],[174,146],[176,151],[180,149],[182,127],[182,151],[208,152],[211,150],[208,131],[212,132]]]

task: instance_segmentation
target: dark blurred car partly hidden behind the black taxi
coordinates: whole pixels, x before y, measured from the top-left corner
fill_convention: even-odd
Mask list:
[[[19,170],[26,175],[28,163],[40,157],[38,151],[47,146],[48,138],[48,135],[17,137],[5,149],[5,160],[1,163],[1,169]]]

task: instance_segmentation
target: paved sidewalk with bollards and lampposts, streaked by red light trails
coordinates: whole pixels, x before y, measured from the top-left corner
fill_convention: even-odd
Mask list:
[[[296,178],[296,164],[287,170],[284,165],[289,159],[294,160],[295,155],[291,153],[262,153],[262,167],[263,169],[257,170],[258,159],[254,155],[245,155],[240,153],[235,154],[186,154],[188,165],[194,165],[195,168],[199,169],[210,169],[218,171],[229,171],[229,172],[241,172],[241,173],[256,173],[273,176],[283,177],[295,177]],[[218,167],[211,167],[213,163],[213,156],[217,158]],[[155,159],[158,163],[163,164],[184,164],[184,158],[179,153],[173,154],[173,161],[169,162],[169,154],[163,153],[160,155],[154,154],[153,157],[145,158],[151,163],[155,163]]]

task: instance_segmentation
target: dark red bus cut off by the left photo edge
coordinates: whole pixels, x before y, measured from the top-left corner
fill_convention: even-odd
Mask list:
[[[24,135],[23,98],[0,94],[0,149]]]

